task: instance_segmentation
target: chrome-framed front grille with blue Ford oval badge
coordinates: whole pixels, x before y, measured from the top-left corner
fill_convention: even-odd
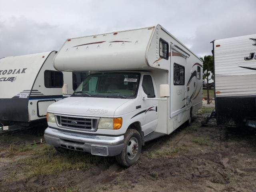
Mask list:
[[[96,131],[99,118],[56,115],[59,127],[84,131]]]

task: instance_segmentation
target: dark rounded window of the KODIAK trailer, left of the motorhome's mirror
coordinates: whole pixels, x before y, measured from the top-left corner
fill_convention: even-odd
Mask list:
[[[62,88],[63,73],[61,71],[44,71],[44,86],[46,88]]]

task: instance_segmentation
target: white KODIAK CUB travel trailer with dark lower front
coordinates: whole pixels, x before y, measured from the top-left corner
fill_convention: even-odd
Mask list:
[[[77,87],[77,72],[54,69],[56,51],[0,59],[0,130],[28,126],[46,118],[48,106],[60,99],[62,86],[67,93]],[[74,90],[72,86],[74,81]],[[84,77],[85,78],[85,77]]]

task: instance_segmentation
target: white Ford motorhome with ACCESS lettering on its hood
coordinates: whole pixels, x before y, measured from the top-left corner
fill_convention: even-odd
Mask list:
[[[191,122],[202,106],[202,61],[160,25],[68,39],[54,68],[92,72],[48,107],[44,138],[60,152],[130,166],[145,142]]]

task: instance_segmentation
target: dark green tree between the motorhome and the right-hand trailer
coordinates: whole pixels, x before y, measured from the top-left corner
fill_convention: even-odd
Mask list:
[[[204,58],[201,59],[203,60],[203,78],[204,80],[206,80],[207,104],[210,104],[209,89],[211,85],[209,84],[209,81],[211,79],[214,79],[213,58],[212,55],[206,55],[204,56]]]

